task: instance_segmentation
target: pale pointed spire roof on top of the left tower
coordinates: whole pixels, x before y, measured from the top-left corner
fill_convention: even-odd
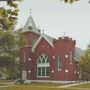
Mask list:
[[[29,29],[29,26],[32,27],[31,30]],[[37,27],[36,27],[36,25],[34,23],[34,20],[33,20],[32,16],[28,17],[28,19],[27,19],[27,21],[26,21],[26,23],[25,23],[25,25],[24,25],[24,27],[22,29],[22,32],[28,32],[28,31],[32,31],[34,33],[40,34],[40,32],[38,31],[38,29],[37,29]]]

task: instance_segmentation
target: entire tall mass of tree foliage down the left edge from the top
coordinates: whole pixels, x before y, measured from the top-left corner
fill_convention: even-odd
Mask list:
[[[16,34],[13,31],[19,11],[16,1],[21,0],[1,1],[7,2],[9,9],[4,7],[0,8],[0,69],[4,68],[4,72],[9,77],[13,78],[16,77],[16,73],[19,69],[19,47],[23,46],[23,34]]]

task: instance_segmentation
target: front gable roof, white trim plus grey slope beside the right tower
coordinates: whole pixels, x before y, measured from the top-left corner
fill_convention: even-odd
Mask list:
[[[46,34],[41,34],[41,36],[39,37],[39,39],[37,40],[37,42],[32,47],[32,52],[34,52],[36,46],[40,43],[40,41],[42,40],[42,38],[44,38],[53,47],[53,39],[54,38],[52,38],[52,37],[50,37],[50,36],[48,36]]]

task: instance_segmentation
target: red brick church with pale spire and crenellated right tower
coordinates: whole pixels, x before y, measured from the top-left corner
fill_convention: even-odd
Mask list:
[[[41,33],[32,16],[29,16],[22,32],[25,35],[25,46],[21,48],[23,80],[78,80],[75,40],[67,36],[55,39]]]

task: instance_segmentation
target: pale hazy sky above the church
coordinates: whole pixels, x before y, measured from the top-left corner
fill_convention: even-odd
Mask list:
[[[24,0],[19,3],[16,29],[23,27],[30,16],[44,33],[58,38],[64,35],[76,40],[76,46],[86,49],[90,43],[90,4],[80,0],[66,4],[59,0]],[[0,3],[2,4],[2,3]]]

